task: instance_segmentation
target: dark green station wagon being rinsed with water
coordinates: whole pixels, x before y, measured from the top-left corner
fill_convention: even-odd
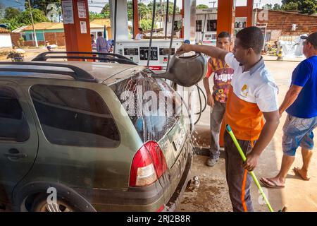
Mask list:
[[[125,63],[0,63],[0,207],[175,210],[192,166],[188,112],[166,81]],[[127,108],[147,92],[164,93],[170,114],[144,114],[134,97]]]

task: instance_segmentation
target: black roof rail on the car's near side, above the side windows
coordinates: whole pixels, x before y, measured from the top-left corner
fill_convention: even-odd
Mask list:
[[[1,65],[12,65],[12,68],[1,68],[0,71],[20,71],[20,72],[32,72],[32,73],[54,73],[60,75],[68,75],[73,77],[77,81],[86,81],[97,83],[96,78],[87,71],[80,69],[77,66],[68,64],[51,64],[51,63],[37,63],[37,62],[0,62]],[[72,71],[58,71],[51,69],[18,69],[16,66],[51,66],[56,68],[65,68]]]

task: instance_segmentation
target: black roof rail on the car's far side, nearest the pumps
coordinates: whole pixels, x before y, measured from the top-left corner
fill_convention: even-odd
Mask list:
[[[47,56],[49,54],[89,54],[89,55],[101,55],[101,57],[88,57],[88,56]],[[104,57],[106,56],[106,57]],[[111,58],[108,58],[111,57]],[[112,54],[112,53],[103,53],[103,52],[43,52],[32,61],[46,61],[46,59],[97,59],[97,60],[106,60],[106,61],[115,61],[119,64],[132,64],[137,65],[134,61],[124,57],[120,54]]]

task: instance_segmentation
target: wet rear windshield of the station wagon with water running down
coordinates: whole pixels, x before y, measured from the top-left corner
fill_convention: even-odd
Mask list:
[[[128,112],[142,141],[159,141],[182,115],[182,100],[151,71],[135,72],[130,78],[111,85]]]

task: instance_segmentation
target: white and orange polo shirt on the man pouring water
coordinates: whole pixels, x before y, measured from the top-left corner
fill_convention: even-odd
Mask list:
[[[225,61],[235,69],[232,76],[225,124],[229,124],[239,140],[256,141],[263,129],[263,113],[278,110],[278,86],[263,59],[249,71],[235,59],[232,53],[225,56]]]

